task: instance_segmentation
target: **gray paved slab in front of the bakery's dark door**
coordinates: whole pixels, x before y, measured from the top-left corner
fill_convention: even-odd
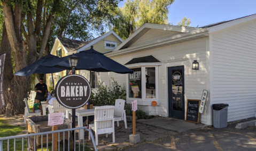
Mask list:
[[[136,122],[175,132],[184,132],[187,130],[198,129],[208,126],[196,125],[195,123],[190,123],[185,120],[164,117],[141,119],[137,120]]]

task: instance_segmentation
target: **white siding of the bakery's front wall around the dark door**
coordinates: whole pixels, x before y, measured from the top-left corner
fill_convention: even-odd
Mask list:
[[[153,55],[162,62],[162,65],[159,66],[158,79],[160,106],[156,106],[156,109],[151,110],[152,100],[150,100],[148,106],[138,104],[138,108],[143,109],[144,112],[148,114],[158,113],[158,115],[161,116],[168,116],[168,67],[184,65],[184,106],[187,107],[187,99],[200,99],[203,90],[206,89],[206,40],[208,40],[208,38],[200,38],[111,58],[121,64],[126,64],[133,58]],[[180,61],[181,59],[183,59],[183,61]],[[192,62],[194,60],[199,62],[199,70],[192,70]],[[114,79],[121,85],[126,85],[128,80],[126,74],[117,74],[113,72],[102,73],[100,79],[104,81],[105,85],[108,85],[111,77],[114,77]],[[127,100],[128,103],[130,101],[131,100]],[[145,102],[147,101],[145,100],[144,103]],[[156,112],[149,113],[153,111]],[[209,110],[209,112],[211,112],[211,110]],[[206,115],[202,115],[201,121],[206,123]]]

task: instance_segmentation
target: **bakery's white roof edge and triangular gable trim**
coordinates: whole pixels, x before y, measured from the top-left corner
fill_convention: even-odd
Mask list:
[[[121,45],[115,48],[112,52],[107,53],[106,56],[113,57],[118,55],[124,55],[132,52],[143,51],[149,48],[156,48],[160,46],[181,43],[181,42],[189,41],[193,39],[208,37],[209,34],[212,32],[220,31],[223,29],[236,26],[238,24],[242,24],[242,23],[254,21],[254,20],[256,20],[256,14],[244,16],[242,18],[237,18],[229,21],[222,21],[222,22],[210,24],[207,26],[203,26],[200,28],[144,23],[130,37],[128,37],[125,41],[123,41]],[[157,39],[154,41],[150,41],[149,43],[146,43],[146,44],[143,43],[141,45],[132,45],[140,37],[142,37],[149,29],[176,31],[180,33],[170,37],[165,37],[165,38]]]

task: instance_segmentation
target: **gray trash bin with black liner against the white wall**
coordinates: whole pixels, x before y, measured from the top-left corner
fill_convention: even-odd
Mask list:
[[[226,128],[228,126],[228,104],[213,104],[213,127]]]

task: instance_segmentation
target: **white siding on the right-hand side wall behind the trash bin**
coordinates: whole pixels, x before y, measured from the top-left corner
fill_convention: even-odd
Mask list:
[[[212,104],[229,104],[228,122],[256,113],[255,35],[255,21],[212,35]]]

